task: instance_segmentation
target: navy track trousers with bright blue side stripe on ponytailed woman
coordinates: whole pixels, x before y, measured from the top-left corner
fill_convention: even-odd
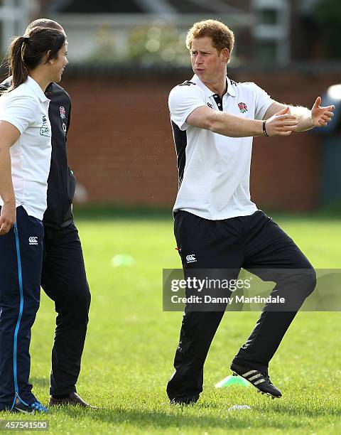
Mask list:
[[[36,401],[29,384],[31,327],[40,301],[43,222],[16,209],[16,227],[0,237],[0,410],[16,397]]]

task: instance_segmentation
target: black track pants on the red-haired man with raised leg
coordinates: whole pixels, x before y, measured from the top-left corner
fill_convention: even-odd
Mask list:
[[[174,232],[185,276],[195,276],[195,269],[226,269],[225,278],[236,279],[243,267],[264,281],[275,281],[271,294],[285,295],[286,289],[295,289],[296,308],[264,310],[234,358],[240,365],[267,371],[296,312],[315,288],[315,271],[308,259],[261,210],[226,220],[207,220],[180,211],[175,215]],[[278,269],[306,272],[291,282],[290,276],[278,277]],[[203,366],[223,314],[224,307],[220,311],[191,311],[186,306],[175,353],[175,372],[167,385],[170,399],[197,397],[202,392]]]

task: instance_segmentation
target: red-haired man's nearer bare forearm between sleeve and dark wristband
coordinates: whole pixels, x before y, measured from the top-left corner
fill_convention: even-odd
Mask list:
[[[263,122],[221,112],[212,117],[208,129],[229,137],[262,136]]]

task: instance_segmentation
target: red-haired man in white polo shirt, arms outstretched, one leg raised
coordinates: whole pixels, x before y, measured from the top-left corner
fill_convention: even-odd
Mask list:
[[[323,127],[332,119],[333,107],[320,107],[320,97],[311,111],[288,107],[254,83],[230,80],[227,63],[234,35],[220,21],[195,23],[186,45],[195,75],[169,96],[179,171],[174,231],[184,273],[193,277],[211,270],[210,277],[236,279],[243,267],[275,281],[274,294],[295,299],[286,311],[264,307],[231,365],[257,390],[281,397],[269,379],[269,361],[315,288],[315,271],[293,240],[250,199],[252,137]],[[278,269],[301,272],[276,274]],[[186,306],[175,372],[167,386],[172,403],[199,398],[205,358],[225,307],[205,311]]]

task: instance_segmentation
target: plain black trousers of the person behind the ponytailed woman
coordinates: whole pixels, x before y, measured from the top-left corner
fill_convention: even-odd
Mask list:
[[[58,313],[52,350],[50,394],[76,391],[89,320],[90,289],[77,228],[45,227],[41,286]]]

